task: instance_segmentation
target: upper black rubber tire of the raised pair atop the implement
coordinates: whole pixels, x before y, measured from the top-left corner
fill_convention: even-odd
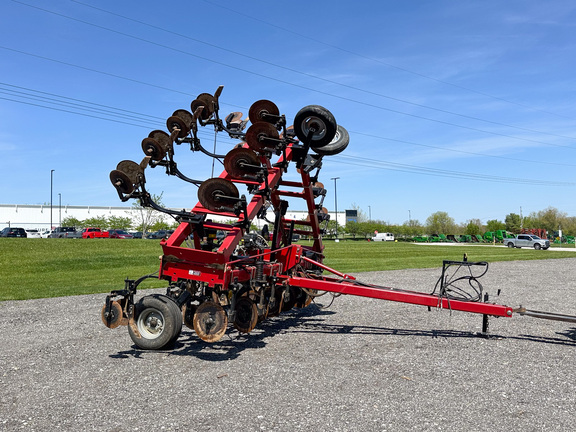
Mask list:
[[[320,105],[308,105],[302,108],[294,117],[294,132],[298,139],[306,142],[308,132],[314,126],[317,131],[310,139],[310,147],[324,147],[336,135],[336,119],[330,111]]]

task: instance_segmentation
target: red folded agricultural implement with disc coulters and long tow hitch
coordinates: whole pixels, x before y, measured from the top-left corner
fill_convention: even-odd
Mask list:
[[[293,127],[268,100],[255,102],[248,119],[232,113],[222,120],[221,91],[200,94],[191,111],[175,111],[167,120],[168,132],[152,131],[142,141],[141,163],[122,161],[110,173],[122,201],[138,199],[144,207],[173,216],[179,226],[160,242],[157,274],[127,279],[123,289],[106,297],[101,316],[107,327],[128,326],[134,343],[144,349],[170,346],[183,323],[203,341],[216,342],[229,322],[250,333],[267,317],[308,306],[326,292],[482,314],[484,333],[489,316],[510,317],[513,312],[576,322],[576,317],[514,311],[488,302],[478,282],[487,270],[483,262],[445,261],[432,294],[361,283],[327,267],[322,235],[329,215],[318,175],[325,156],[346,148],[348,133],[317,105],[302,108]],[[251,126],[244,131],[248,121]],[[225,155],[214,154],[201,145],[199,126],[213,127],[240,143]],[[176,146],[182,144],[222,161],[224,171],[205,181],[187,177],[174,161]],[[146,190],[147,168],[164,168],[168,175],[198,186],[199,202],[190,211],[160,206]],[[290,168],[296,169],[297,180],[283,179]],[[245,188],[249,198],[238,187]],[[298,200],[308,211],[306,220],[287,217],[289,202]],[[218,223],[219,217],[233,223]],[[251,229],[257,219],[273,226],[271,238]],[[224,235],[218,239],[217,232]],[[307,236],[311,245],[292,244],[295,234]],[[166,295],[146,295],[135,302],[138,286],[148,278],[167,281]]]

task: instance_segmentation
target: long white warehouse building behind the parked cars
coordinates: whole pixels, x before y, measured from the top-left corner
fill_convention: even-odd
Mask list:
[[[37,229],[39,231],[53,229],[60,226],[60,221],[66,218],[85,220],[97,217],[133,217],[134,207],[104,207],[104,206],[71,206],[71,205],[30,205],[30,204],[0,204],[0,229],[5,227],[19,227],[24,229]],[[162,213],[159,213],[162,214]],[[290,211],[286,213],[289,219],[301,220],[308,215],[305,211]],[[174,219],[169,215],[163,215],[167,223],[171,224]],[[334,219],[334,212],[330,212]],[[230,218],[212,217],[213,220],[226,222]],[[136,220],[136,219],[135,219]],[[268,214],[268,220],[273,221],[272,212]],[[52,223],[50,223],[52,221]],[[254,219],[254,224],[261,228],[264,221]],[[344,225],[346,217],[344,212],[338,212],[338,224]]]

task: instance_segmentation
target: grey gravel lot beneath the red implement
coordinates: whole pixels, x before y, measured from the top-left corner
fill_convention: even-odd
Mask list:
[[[440,269],[356,276],[430,292]],[[482,283],[574,315],[575,279],[576,258],[495,263]],[[0,430],[574,430],[576,324],[493,318],[484,339],[479,315],[342,296],[150,352],[102,325],[104,298],[0,303]]]

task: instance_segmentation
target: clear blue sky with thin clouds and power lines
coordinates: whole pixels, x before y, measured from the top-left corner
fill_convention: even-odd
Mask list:
[[[121,205],[110,170],[224,85],[223,116],[270,99],[290,121],[316,104],[349,131],[346,151],[324,159],[329,210],[339,177],[339,210],[390,223],[576,215],[574,2],[357,5],[4,0],[0,202],[49,202],[55,170],[55,203]],[[200,137],[212,148],[213,131]],[[217,151],[235,143],[218,134]],[[210,176],[201,154],[177,148],[176,161]],[[146,174],[164,204],[196,203],[196,187]]]

